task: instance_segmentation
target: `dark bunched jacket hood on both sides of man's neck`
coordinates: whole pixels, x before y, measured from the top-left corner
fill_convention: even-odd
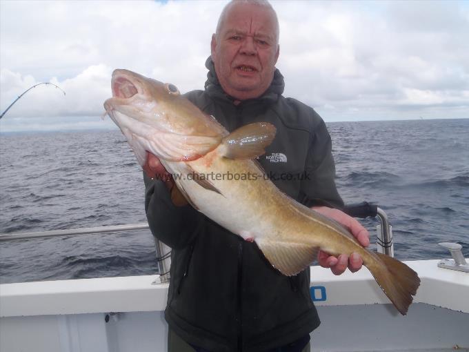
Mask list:
[[[234,98],[227,95],[226,92],[221,88],[220,82],[217,77],[217,72],[215,72],[215,66],[212,61],[212,57],[209,56],[206,61],[206,68],[208,68],[207,81],[205,84],[205,90],[212,98],[225,99],[233,101]],[[266,102],[277,101],[279,95],[283,93],[283,88],[285,88],[285,81],[283,81],[283,76],[281,75],[278,68],[275,69],[274,79],[269,88],[257,99],[261,99]],[[248,99],[255,100],[255,99]]]

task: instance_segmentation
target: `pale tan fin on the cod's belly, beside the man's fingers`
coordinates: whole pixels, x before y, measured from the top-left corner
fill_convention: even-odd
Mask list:
[[[257,246],[267,260],[283,275],[297,275],[307,268],[317,257],[319,247],[298,242],[256,239]]]

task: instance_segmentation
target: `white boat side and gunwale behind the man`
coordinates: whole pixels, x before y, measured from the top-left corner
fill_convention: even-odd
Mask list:
[[[469,351],[469,274],[406,262],[421,286],[401,316],[368,270],[311,268],[321,326],[312,351]],[[158,275],[0,285],[2,352],[166,351]],[[107,321],[107,322],[106,322]]]

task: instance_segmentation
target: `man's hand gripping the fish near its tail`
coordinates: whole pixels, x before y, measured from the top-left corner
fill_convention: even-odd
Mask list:
[[[348,216],[346,213],[343,213],[338,209],[328,208],[327,206],[315,206],[312,210],[330,217],[331,219],[335,219],[335,221],[346,226],[362,246],[367,247],[370,245],[370,234],[366,228],[361,226],[361,224],[353,217]],[[346,271],[347,267],[352,271],[352,273],[355,273],[355,271],[359,271],[363,265],[363,260],[357,253],[352,253],[349,258],[346,254],[334,257],[326,252],[319,251],[317,261],[323,268],[330,268],[334,275],[341,275],[341,273]]]

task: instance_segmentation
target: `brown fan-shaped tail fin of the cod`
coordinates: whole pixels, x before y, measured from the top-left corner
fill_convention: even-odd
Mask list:
[[[415,295],[419,288],[419,276],[406,264],[393,257],[381,253],[374,254],[377,255],[378,263],[367,266],[368,269],[392,304],[402,315],[406,315],[412,303],[412,295]]]

